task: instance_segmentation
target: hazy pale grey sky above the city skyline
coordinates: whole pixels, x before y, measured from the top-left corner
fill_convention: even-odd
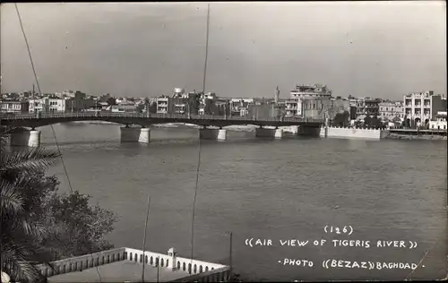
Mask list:
[[[155,97],[202,90],[207,3],[19,3],[42,92]],[[14,4],[2,4],[2,92],[34,76]],[[211,3],[205,91],[280,98],[301,83],[333,95],[446,94],[446,4]]]

